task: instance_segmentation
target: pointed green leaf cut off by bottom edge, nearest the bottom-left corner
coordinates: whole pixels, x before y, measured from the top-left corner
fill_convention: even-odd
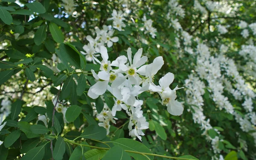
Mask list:
[[[41,145],[28,151],[20,160],[42,160],[44,152],[44,145]]]

